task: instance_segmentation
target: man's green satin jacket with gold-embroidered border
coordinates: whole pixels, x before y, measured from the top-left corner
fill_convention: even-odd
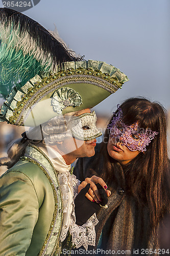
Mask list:
[[[58,255],[62,218],[57,172],[29,145],[0,178],[0,255]]]

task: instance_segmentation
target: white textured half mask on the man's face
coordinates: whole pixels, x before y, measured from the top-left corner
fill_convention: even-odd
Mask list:
[[[102,133],[96,127],[97,117],[95,111],[72,117],[67,124],[72,136],[79,140],[92,140],[100,137]]]

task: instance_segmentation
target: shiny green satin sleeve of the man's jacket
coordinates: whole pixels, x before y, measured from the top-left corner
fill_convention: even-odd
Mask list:
[[[0,255],[24,256],[38,219],[38,198],[31,180],[20,172],[0,179]]]

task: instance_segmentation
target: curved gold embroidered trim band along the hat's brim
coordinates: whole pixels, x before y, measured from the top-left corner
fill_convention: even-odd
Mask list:
[[[17,108],[13,110],[13,115],[9,117],[9,122],[21,125],[30,114],[31,107],[43,97],[64,85],[74,83],[91,83],[110,93],[122,88],[123,84],[116,76],[110,77],[109,74],[102,73],[100,70],[78,68],[60,71],[58,74],[44,77],[41,82],[36,82],[33,88],[28,89],[27,94],[22,95],[21,101],[17,102]]]

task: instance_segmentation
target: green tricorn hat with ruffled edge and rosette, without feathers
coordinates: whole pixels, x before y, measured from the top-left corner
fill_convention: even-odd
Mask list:
[[[61,113],[93,108],[128,80],[102,61],[63,62],[55,74],[36,75],[19,90],[15,87],[1,108],[0,121],[37,126]]]

